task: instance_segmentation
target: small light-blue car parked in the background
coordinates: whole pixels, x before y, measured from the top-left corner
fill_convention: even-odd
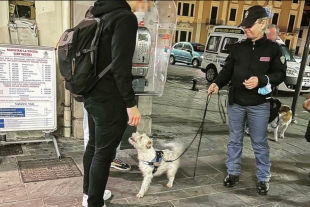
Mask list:
[[[198,68],[202,61],[204,48],[203,44],[197,42],[178,42],[171,49],[169,62],[171,65],[181,62]]]

